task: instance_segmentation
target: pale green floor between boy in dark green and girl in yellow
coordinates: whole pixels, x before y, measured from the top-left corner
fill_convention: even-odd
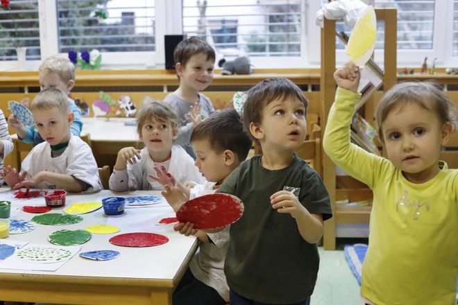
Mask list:
[[[320,270],[311,305],[361,305],[359,284],[343,252],[343,245],[367,243],[367,239],[338,238],[337,250],[325,251],[319,247]]]

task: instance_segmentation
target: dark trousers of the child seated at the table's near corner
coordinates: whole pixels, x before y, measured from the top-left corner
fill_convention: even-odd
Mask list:
[[[217,290],[203,284],[192,275],[189,267],[172,295],[173,305],[219,305],[226,301]]]

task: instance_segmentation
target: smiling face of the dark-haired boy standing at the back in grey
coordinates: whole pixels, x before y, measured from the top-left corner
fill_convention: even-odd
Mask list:
[[[203,53],[192,55],[185,67],[180,62],[176,64],[176,71],[180,76],[180,86],[197,92],[207,88],[212,83],[213,69],[214,60],[207,60],[207,55]]]

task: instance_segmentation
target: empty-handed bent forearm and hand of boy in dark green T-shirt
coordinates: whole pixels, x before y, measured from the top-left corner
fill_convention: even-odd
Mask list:
[[[310,214],[290,191],[278,191],[271,195],[271,204],[278,213],[288,213],[296,219],[299,233],[307,243],[317,243],[323,236],[323,218],[319,214]]]

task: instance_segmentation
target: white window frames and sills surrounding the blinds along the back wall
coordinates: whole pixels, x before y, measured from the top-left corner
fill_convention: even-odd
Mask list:
[[[182,2],[180,0],[155,0],[156,51],[103,53],[103,69],[164,69],[164,35],[182,34]],[[56,0],[38,0],[40,19],[40,51],[42,59],[58,53],[58,27]],[[298,57],[252,57],[255,69],[319,68],[321,60],[320,27],[315,14],[321,1],[303,0],[300,3],[301,35]],[[50,21],[53,20],[53,21]],[[434,6],[433,47],[431,50],[398,50],[398,67],[421,67],[424,58],[428,63],[437,58],[437,67],[457,67],[458,56],[452,56],[453,0],[436,0]],[[219,58],[217,58],[218,60]],[[336,51],[337,64],[346,62],[343,50]],[[36,71],[42,60],[28,60],[26,70]],[[383,64],[383,51],[375,51],[375,62]],[[17,70],[17,62],[0,62],[3,71]]]

